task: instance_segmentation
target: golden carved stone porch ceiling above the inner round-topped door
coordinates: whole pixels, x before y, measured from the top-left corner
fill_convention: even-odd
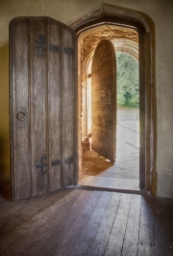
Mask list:
[[[93,54],[94,49],[101,40],[111,40],[115,46],[116,41],[121,40],[122,42],[123,39],[132,42],[131,44],[138,43],[138,33],[133,28],[109,24],[99,25],[84,31],[81,41],[83,63]]]

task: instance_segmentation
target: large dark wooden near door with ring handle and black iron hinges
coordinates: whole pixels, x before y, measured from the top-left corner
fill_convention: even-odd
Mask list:
[[[77,183],[75,34],[48,17],[11,25],[12,198]]]

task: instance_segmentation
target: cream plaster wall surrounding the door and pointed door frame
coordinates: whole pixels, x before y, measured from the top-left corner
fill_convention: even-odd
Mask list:
[[[0,143],[2,179],[10,179],[9,22],[15,16],[45,15],[70,24],[89,14],[100,0],[0,0]],[[149,15],[156,32],[157,195],[173,197],[173,1],[105,0]],[[2,165],[3,166],[3,165]]]

